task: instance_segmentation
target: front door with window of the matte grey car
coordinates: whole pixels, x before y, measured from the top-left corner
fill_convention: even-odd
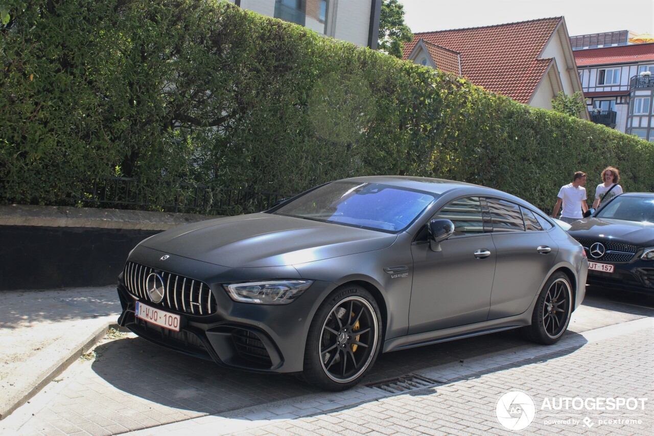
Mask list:
[[[454,234],[441,242],[441,251],[432,251],[424,239],[411,245],[409,334],[477,323],[488,317],[495,249],[492,236],[484,232],[481,202],[477,197],[454,200],[431,219],[439,218],[455,225]]]

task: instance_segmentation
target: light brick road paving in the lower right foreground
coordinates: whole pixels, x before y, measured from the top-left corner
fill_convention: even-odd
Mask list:
[[[566,336],[552,347],[557,350],[546,355],[532,346],[509,357],[485,355],[465,365],[426,369],[419,376],[436,381],[426,388],[396,394],[356,388],[330,395],[331,403],[271,403],[231,416],[203,416],[133,434],[649,436],[654,429],[653,344],[654,318],[636,319]],[[570,352],[571,347],[578,348]],[[354,391],[368,391],[369,398],[362,401]],[[510,431],[496,414],[498,399],[509,391],[526,393],[534,404],[530,424],[521,431]],[[575,407],[557,409],[557,401],[566,398],[581,400],[570,403]],[[604,398],[636,399],[627,404],[637,407],[611,410],[595,401]],[[598,408],[576,407],[586,399]],[[543,408],[545,404],[553,408]],[[517,422],[511,417],[520,415],[511,413],[504,421],[509,426]]]

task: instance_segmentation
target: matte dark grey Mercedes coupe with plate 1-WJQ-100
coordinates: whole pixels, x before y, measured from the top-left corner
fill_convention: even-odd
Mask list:
[[[120,275],[120,325],[220,365],[354,386],[380,352],[521,327],[553,344],[585,253],[504,192],[356,177],[262,213],[152,236]]]

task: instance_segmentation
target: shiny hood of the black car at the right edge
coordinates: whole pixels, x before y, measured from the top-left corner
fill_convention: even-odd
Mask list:
[[[586,218],[575,221],[568,230],[574,238],[611,239],[623,244],[654,245],[654,223],[621,219]]]

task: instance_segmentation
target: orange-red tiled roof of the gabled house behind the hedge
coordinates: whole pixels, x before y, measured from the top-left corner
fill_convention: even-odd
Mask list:
[[[542,18],[497,26],[415,33],[413,41],[404,49],[404,59],[423,39],[460,53],[462,75],[473,84],[528,103],[551,62],[549,58],[538,56],[561,20],[562,17]]]

